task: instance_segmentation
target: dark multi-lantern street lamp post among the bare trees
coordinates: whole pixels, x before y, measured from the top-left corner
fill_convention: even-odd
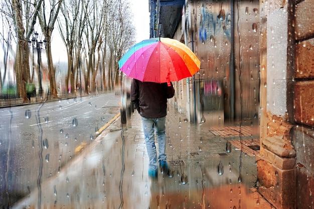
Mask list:
[[[32,41],[29,40],[28,41],[28,44],[29,44],[29,47],[30,48],[33,48],[33,56],[34,56],[34,50],[37,49],[37,64],[38,64],[38,80],[39,80],[39,90],[38,90],[38,93],[39,95],[42,97],[43,95],[43,86],[42,86],[42,72],[41,72],[41,69],[40,69],[40,66],[41,66],[41,50],[44,49],[46,47],[46,44],[47,44],[47,40],[44,39],[44,41],[38,41],[38,33],[35,32],[34,33],[34,36],[32,38]],[[33,64],[34,66],[34,64]]]

